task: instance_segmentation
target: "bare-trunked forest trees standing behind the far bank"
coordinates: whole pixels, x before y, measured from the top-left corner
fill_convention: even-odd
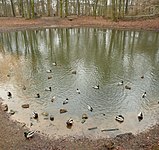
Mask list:
[[[0,0],[1,17],[101,16],[123,18],[158,17],[158,0]]]

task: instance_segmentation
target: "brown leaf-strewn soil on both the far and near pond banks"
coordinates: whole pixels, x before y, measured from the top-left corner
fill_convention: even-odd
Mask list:
[[[23,18],[0,18],[0,32],[35,29],[43,27],[103,27],[121,29],[144,29],[159,31],[159,18],[139,21],[112,22],[102,18],[38,18],[25,20]],[[25,139],[23,124],[10,119],[0,106],[0,150],[159,150],[159,125],[152,129],[133,135],[131,133],[118,135],[114,139],[91,140],[86,137],[68,137],[49,139],[42,133],[35,133],[30,140]]]

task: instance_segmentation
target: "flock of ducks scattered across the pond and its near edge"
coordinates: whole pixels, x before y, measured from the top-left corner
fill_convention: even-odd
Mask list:
[[[53,65],[56,66],[56,63],[53,63]],[[47,70],[46,72],[47,72],[47,73],[51,73],[52,70]],[[141,78],[143,78],[143,76],[142,76]],[[49,79],[49,78],[48,78],[48,79]],[[124,85],[124,81],[121,81],[121,82],[117,83],[117,85],[118,85],[118,86]],[[99,90],[99,85],[95,85],[95,86],[93,86],[92,88]],[[129,87],[129,86],[127,86],[127,85],[125,85],[125,88],[126,88],[126,89],[129,89],[129,90],[131,89],[131,87]],[[26,87],[24,86],[23,89],[26,90]],[[51,91],[51,90],[52,90],[51,87],[45,88],[45,91]],[[76,92],[77,92],[78,94],[81,93],[78,88],[76,89]],[[8,98],[12,98],[12,93],[11,93],[10,91],[8,91],[7,96],[8,96]],[[35,97],[36,97],[36,98],[40,98],[40,94],[37,93]],[[142,98],[145,98],[145,97],[146,97],[146,92],[144,92],[144,93],[142,94]],[[54,100],[55,100],[55,96],[52,98],[52,102],[53,102]],[[63,101],[63,105],[67,104],[68,102],[69,102],[69,99],[66,98],[66,99]],[[93,111],[93,107],[92,107],[92,106],[87,105],[87,108],[88,108],[89,111],[91,111],[91,112]],[[37,118],[38,118],[38,113],[35,112],[35,111],[32,112],[32,117],[33,117],[34,119],[37,119]],[[140,112],[137,117],[138,117],[139,121],[141,121],[141,120],[143,119],[143,113]],[[51,119],[50,119],[50,120],[51,120]],[[117,116],[115,117],[115,120],[118,121],[118,122],[120,122],[120,123],[122,123],[122,122],[124,122],[124,116],[122,116],[121,114],[119,114],[119,115],[117,115]],[[68,127],[70,127],[70,126],[73,125],[73,122],[74,122],[73,119],[70,118],[70,119],[68,119],[68,120],[66,121],[66,125],[67,125]],[[35,133],[35,131],[24,132],[24,136],[28,139],[28,138],[31,138],[31,137],[34,135],[34,133]]]

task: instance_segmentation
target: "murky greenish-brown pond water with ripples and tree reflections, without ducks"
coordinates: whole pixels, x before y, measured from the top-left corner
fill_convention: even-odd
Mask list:
[[[55,28],[1,33],[0,97],[15,111],[13,119],[51,137],[136,134],[159,119],[158,64],[157,32]],[[121,81],[124,85],[118,86]],[[52,90],[45,91],[47,87]],[[142,98],[144,92],[147,95]],[[35,98],[37,93],[40,98]],[[63,105],[66,98],[68,104]],[[30,107],[22,108],[22,104]],[[93,107],[92,112],[87,105]],[[61,108],[67,112],[60,114]],[[38,120],[32,118],[33,111],[38,112]],[[54,116],[54,121],[42,112]],[[140,122],[139,112],[144,115]],[[84,123],[82,114],[88,115]],[[119,114],[124,116],[123,123],[115,120]],[[74,120],[70,129],[66,127],[69,118]],[[88,130],[92,127],[97,129]]]

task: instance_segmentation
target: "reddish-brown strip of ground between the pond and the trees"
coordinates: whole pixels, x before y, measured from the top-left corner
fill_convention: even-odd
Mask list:
[[[72,20],[72,21],[70,21]],[[159,32],[159,18],[138,21],[118,21],[112,22],[103,18],[93,17],[69,17],[65,19],[57,17],[44,17],[34,20],[25,20],[24,18],[0,18],[0,32],[45,28],[45,27],[100,27],[100,28],[119,28],[119,29],[137,29],[154,30]]]

